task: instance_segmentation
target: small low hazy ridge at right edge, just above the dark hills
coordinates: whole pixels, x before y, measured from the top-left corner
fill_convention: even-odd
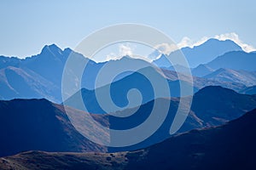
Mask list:
[[[256,84],[256,71],[235,71],[221,68],[208,74],[204,78],[220,82],[237,82],[246,86],[253,86]]]

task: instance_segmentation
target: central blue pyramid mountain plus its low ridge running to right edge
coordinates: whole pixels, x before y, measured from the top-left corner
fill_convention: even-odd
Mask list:
[[[242,89],[246,88],[246,86],[243,83],[241,83],[242,80],[245,79],[246,77],[243,77],[243,79],[239,79],[239,77],[236,77],[237,82],[231,81],[228,79],[224,81],[222,79],[218,80],[217,78],[208,79],[208,78],[201,78],[201,77],[193,77],[193,86],[192,86],[192,84],[189,82],[188,76],[180,74],[179,77],[177,77],[176,71],[169,71],[169,70],[157,71],[151,67],[144,68],[143,71],[147,71],[148,73],[150,73],[151,75],[154,75],[154,77],[157,77],[159,79],[167,80],[172,97],[181,96],[180,83],[182,83],[184,86],[188,88],[192,88],[194,90],[194,93],[196,93],[199,89],[205,88],[207,86],[221,86],[224,88],[234,89],[236,90],[236,92],[240,92]],[[242,73],[244,72],[247,73],[246,71],[243,71]],[[247,73],[247,75],[250,75],[250,73]],[[245,76],[247,75],[245,74]],[[252,75],[251,79],[250,77],[247,78],[248,84],[249,83],[251,84],[254,82],[253,76],[254,75]],[[70,98],[68,98],[64,103],[65,105],[70,105],[79,110],[84,110],[84,105],[85,105],[87,109],[86,111],[89,111],[90,113],[106,113],[106,112],[108,113],[108,111],[104,111],[104,109],[98,103],[98,100],[96,98],[96,91],[109,93],[111,95],[111,99],[113,100],[114,104],[118,105],[121,108],[124,108],[129,103],[129,100],[127,99],[126,96],[129,90],[132,88],[137,88],[140,91],[141,95],[143,96],[142,104],[145,104],[150,100],[155,99],[154,87],[152,86],[151,82],[148,81],[147,77],[143,77],[140,73],[134,72],[134,73],[131,73],[129,76],[124,77],[107,86],[96,88],[96,90],[88,90],[86,88],[82,88],[76,94],[73,94]],[[189,95],[189,93],[184,94],[184,96],[186,95]],[[83,100],[81,99],[81,96]],[[167,94],[166,96],[165,95],[161,96],[161,98],[168,98],[168,97],[170,96],[168,96]],[[134,107],[137,105],[130,105],[130,107]]]

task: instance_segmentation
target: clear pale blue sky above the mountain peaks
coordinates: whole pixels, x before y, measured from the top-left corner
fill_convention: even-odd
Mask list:
[[[0,55],[24,58],[52,43],[75,48],[91,32],[121,23],[152,26],[180,46],[233,37],[250,51],[255,20],[253,0],[2,0]]]

